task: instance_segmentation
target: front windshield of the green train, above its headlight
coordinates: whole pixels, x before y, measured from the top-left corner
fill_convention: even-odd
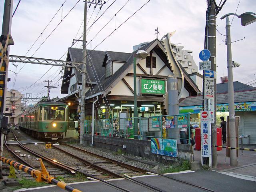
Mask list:
[[[59,106],[44,107],[44,120],[64,121],[65,108]]]

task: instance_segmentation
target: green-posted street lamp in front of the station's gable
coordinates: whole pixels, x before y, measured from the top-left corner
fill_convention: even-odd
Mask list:
[[[133,117],[134,117],[134,139],[138,139],[138,107],[137,107],[137,81],[136,81],[136,60],[146,59],[148,53],[144,50],[138,50],[136,55],[133,58],[133,83],[134,83],[134,108],[133,108]]]

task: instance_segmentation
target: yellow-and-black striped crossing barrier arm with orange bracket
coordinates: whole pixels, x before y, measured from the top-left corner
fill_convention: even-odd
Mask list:
[[[4,158],[2,156],[0,156],[0,161],[7,163],[11,166],[14,166],[15,168],[22,170],[28,174],[30,174],[32,177],[36,178],[36,182],[42,182],[42,181],[46,181],[48,183],[57,185],[58,187],[68,191],[68,192],[82,192],[78,189],[72,188],[71,186],[67,185],[64,182],[60,182],[58,180],[56,180],[54,177],[49,175],[49,172],[47,172],[43,162],[41,159],[40,160],[40,164],[41,164],[41,171],[40,170],[36,170],[36,169],[32,169],[26,165],[20,164],[18,162],[15,162],[11,159],[7,159]]]

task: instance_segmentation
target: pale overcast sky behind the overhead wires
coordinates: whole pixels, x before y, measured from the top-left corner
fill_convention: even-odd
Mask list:
[[[57,10],[65,0],[21,0],[20,5],[14,17],[12,18],[12,37],[15,45],[11,46],[10,54],[24,56],[35,40],[40,36],[48,22],[52,19]],[[82,0],[74,9],[64,18],[70,9],[78,0],[66,0],[63,9],[56,14],[52,22],[43,32],[42,36],[30,49],[26,56],[32,56],[40,44],[44,42],[52,30],[59,24],[56,30],[35,52],[34,57],[60,59],[61,56],[72,45],[72,41],[82,36],[83,25],[80,28],[84,18],[84,3]],[[91,26],[96,15],[98,17],[112,4],[114,0],[108,0],[99,11],[99,8],[92,6],[88,10],[88,27]],[[92,26],[88,32],[87,40],[90,40],[98,31],[118,12],[118,10],[127,2],[127,0],[116,0],[112,6],[102,15],[102,17]],[[112,19],[110,23],[88,44],[88,49],[95,48],[106,36],[130,17],[147,0],[130,0],[118,14],[116,20]],[[217,4],[220,0],[216,0]],[[240,2],[239,6],[238,3]],[[13,10],[16,8],[18,0],[14,0]],[[0,4],[0,18],[2,23],[4,4]],[[238,9],[237,9],[238,7]],[[125,24],[118,28],[102,44],[96,47],[96,50],[111,50],[118,52],[132,52],[132,46],[141,42],[151,41],[156,38],[154,29],[158,27],[161,38],[168,32],[176,30],[171,38],[172,43],[182,43],[186,50],[192,50],[192,56],[196,64],[200,62],[198,54],[204,49],[204,28],[206,23],[206,0],[150,0],[141,10],[139,10]],[[237,9],[237,12],[236,12]],[[227,13],[242,14],[244,12],[256,12],[255,0],[228,0],[216,19],[217,29],[221,34],[226,34],[225,20],[220,20],[221,16]],[[91,18],[90,18],[91,17]],[[233,17],[230,17],[230,22]],[[90,19],[90,20],[89,20]],[[78,31],[78,29],[80,30]],[[2,25],[1,25],[2,30]],[[234,81],[252,84],[256,82],[255,66],[255,42],[256,42],[256,22],[248,26],[241,26],[239,18],[234,18],[231,26],[231,41],[244,40],[232,43],[232,60],[241,64],[239,68],[233,70]],[[225,36],[217,32],[217,83],[221,76],[227,76],[226,45],[223,42]],[[74,47],[80,48],[81,43]],[[61,58],[66,60],[66,54]],[[15,65],[18,63],[14,63]],[[18,72],[24,64],[18,64],[17,68],[10,63],[9,69]],[[18,72],[14,88],[22,91],[23,94],[32,93],[33,97],[45,96],[42,92],[46,86],[44,80],[53,80],[52,86],[58,86],[58,89],[51,90],[51,97],[66,96],[60,94],[61,82],[60,68],[54,66],[47,72],[51,66],[36,64],[26,64]],[[46,73],[47,72],[47,73]],[[46,75],[44,75],[46,73]],[[44,75],[44,76],[43,76]],[[8,88],[12,89],[14,85],[14,73],[9,72],[11,81],[8,82]],[[40,80],[38,80],[43,76]],[[38,80],[38,82],[36,82]],[[252,82],[251,82],[252,81]],[[34,86],[26,89],[26,86]],[[255,85],[254,85],[255,86]],[[25,90],[26,89],[26,90]],[[23,91],[24,90],[24,91]]]

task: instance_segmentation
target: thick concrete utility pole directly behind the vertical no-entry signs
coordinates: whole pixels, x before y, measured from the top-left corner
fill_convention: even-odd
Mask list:
[[[216,6],[212,0],[208,0],[208,6],[210,10],[207,15],[208,33],[207,33],[207,49],[211,53],[211,70],[216,72]],[[214,123],[211,124],[212,130],[212,146],[216,145],[217,129],[216,129],[216,76],[214,77],[214,102],[211,102],[211,108],[214,107]],[[213,106],[214,105],[214,106]],[[216,168],[217,165],[217,150],[216,147],[212,147],[212,168]]]

